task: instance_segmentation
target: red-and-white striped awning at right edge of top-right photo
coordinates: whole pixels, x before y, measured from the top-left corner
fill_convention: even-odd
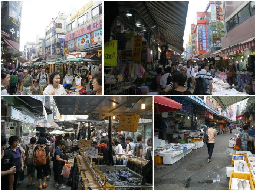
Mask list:
[[[223,48],[221,55],[235,55],[240,54],[245,50],[255,50],[255,37],[250,38],[244,42],[233,45],[232,47]]]

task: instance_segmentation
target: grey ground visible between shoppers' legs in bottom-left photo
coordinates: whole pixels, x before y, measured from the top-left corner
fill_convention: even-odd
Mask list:
[[[48,187],[42,188],[42,190],[59,190],[58,187],[55,188],[55,186],[54,186],[55,182],[54,182],[53,165],[51,166],[51,171],[52,171],[52,175],[50,176],[50,180],[46,181],[46,184],[48,184]],[[63,177],[63,185],[65,185],[66,188],[62,189],[62,190],[71,190],[71,187],[66,185],[67,180],[68,180],[68,178]],[[18,179],[18,182],[19,182],[19,179]],[[25,176],[23,183],[20,185],[17,184],[16,189],[17,190],[38,190],[39,184],[38,184],[38,181],[36,180],[36,177],[35,177],[34,182],[36,183],[35,185],[27,187],[29,180],[28,180],[27,176]],[[43,181],[42,181],[42,184],[43,184]]]

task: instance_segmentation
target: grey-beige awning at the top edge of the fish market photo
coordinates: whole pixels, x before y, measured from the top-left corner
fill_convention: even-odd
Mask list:
[[[249,96],[213,96],[213,98],[219,103],[222,109],[226,109],[228,106],[250,98]]]

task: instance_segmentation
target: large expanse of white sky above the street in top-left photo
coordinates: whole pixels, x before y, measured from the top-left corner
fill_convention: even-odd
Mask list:
[[[20,28],[20,51],[26,42],[36,42],[36,35],[45,37],[45,29],[58,16],[59,11],[74,13],[88,3],[88,0],[24,0]]]

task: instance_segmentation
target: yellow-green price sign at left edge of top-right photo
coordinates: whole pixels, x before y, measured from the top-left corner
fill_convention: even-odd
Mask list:
[[[104,43],[104,66],[117,65],[117,40]]]

